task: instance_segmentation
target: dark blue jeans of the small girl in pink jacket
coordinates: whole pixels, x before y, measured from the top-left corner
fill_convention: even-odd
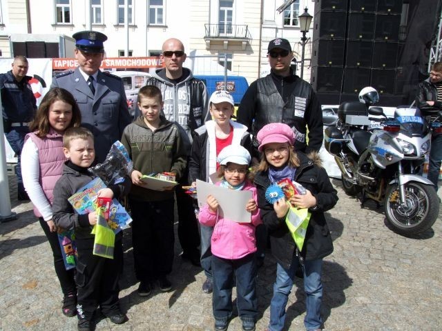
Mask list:
[[[212,256],[213,272],[213,317],[229,319],[232,314],[233,275],[236,275],[238,314],[242,320],[256,321],[258,300],[256,299],[256,254],[242,259],[229,260]]]

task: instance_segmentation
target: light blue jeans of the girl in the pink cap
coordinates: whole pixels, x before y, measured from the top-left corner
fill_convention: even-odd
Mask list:
[[[276,268],[276,281],[273,284],[273,298],[270,302],[269,330],[280,331],[285,323],[285,306],[293,287],[296,268],[298,268],[298,257],[294,259],[287,270],[279,263]],[[307,314],[304,325],[307,330],[320,328],[323,321],[320,317],[320,303],[323,298],[323,283],[320,275],[323,268],[323,260],[305,261],[304,263],[304,292],[307,295],[305,301]]]

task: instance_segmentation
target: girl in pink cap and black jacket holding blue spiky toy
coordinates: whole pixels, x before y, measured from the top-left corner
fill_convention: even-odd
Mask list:
[[[298,265],[302,265],[307,296],[305,328],[320,330],[323,325],[320,317],[323,258],[333,252],[324,212],[334,207],[338,196],[327,172],[320,166],[317,154],[307,157],[294,150],[295,135],[289,126],[283,123],[267,124],[258,132],[257,139],[261,162],[254,183],[262,221],[269,232],[271,252],[277,262],[268,330],[280,331],[284,328],[285,308]],[[284,179],[296,181],[306,189],[305,194],[294,194],[287,199],[293,207],[308,208],[311,213],[301,250],[297,248],[286,224],[290,208],[286,198],[269,203],[265,197],[271,184]]]

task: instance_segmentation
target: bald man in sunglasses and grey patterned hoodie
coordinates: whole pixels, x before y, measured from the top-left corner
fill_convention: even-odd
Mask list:
[[[211,119],[208,111],[207,90],[200,79],[193,77],[191,70],[183,68],[186,61],[184,45],[179,39],[164,41],[161,59],[165,68],[158,69],[146,85],[160,88],[164,101],[163,113],[166,119],[180,124],[189,159],[192,148],[193,131]],[[141,112],[135,109],[135,118]],[[200,265],[200,234],[195,217],[193,198],[185,193],[182,185],[189,185],[189,162],[183,177],[179,180],[175,194],[178,210],[178,238],[183,250],[182,258],[193,265]]]

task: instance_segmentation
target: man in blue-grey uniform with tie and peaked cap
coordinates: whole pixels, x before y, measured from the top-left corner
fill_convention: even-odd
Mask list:
[[[81,111],[81,126],[93,132],[95,159],[101,163],[112,144],[122,138],[132,117],[122,79],[99,70],[104,59],[103,42],[108,37],[101,32],[81,31],[73,38],[79,66],[54,77],[50,87],[73,94]]]

